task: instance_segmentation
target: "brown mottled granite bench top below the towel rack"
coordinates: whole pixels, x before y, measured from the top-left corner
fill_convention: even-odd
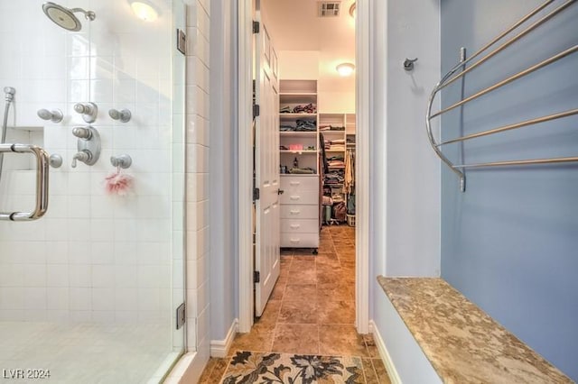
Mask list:
[[[443,279],[378,282],[443,382],[573,382]]]

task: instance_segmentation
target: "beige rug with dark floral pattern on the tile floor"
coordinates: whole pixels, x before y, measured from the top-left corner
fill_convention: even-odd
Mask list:
[[[358,357],[237,352],[221,383],[357,384],[365,383],[365,378]]]

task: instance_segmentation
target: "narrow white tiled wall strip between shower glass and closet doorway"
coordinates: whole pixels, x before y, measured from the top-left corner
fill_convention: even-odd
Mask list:
[[[187,345],[209,358],[209,3],[187,2]]]

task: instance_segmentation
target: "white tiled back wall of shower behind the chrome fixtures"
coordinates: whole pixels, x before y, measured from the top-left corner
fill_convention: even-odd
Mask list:
[[[31,142],[43,140],[63,164],[51,169],[42,220],[0,223],[0,320],[164,322],[172,315],[171,10],[142,23],[127,2],[82,0],[74,6],[97,19],[81,18],[81,32],[65,32],[42,3],[0,2],[0,86],[16,88],[10,124],[43,127]],[[73,105],[88,101],[98,104],[92,125],[102,153],[95,166],[72,169],[71,128],[87,125]],[[41,108],[61,109],[64,120],[41,120]],[[133,119],[118,123],[110,108],[127,108]],[[193,153],[202,159],[207,148],[199,145]],[[108,159],[122,153],[133,159],[126,173],[134,194],[109,196],[104,179],[116,169]],[[33,170],[10,163],[0,209],[30,209]]]

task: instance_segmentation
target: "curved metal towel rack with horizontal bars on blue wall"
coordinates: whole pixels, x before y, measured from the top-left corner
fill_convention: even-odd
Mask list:
[[[573,47],[571,47],[567,50],[564,50],[564,51],[556,54],[555,56],[553,56],[549,59],[545,59],[544,61],[541,61],[541,62],[539,62],[539,63],[537,63],[531,67],[528,67],[527,69],[524,69],[524,70],[518,72],[516,75],[513,75],[509,78],[505,78],[505,79],[499,81],[498,83],[494,84],[491,87],[484,88],[474,95],[465,97],[461,101],[459,101],[453,105],[450,105],[450,106],[448,106],[448,107],[446,107],[446,108],[444,108],[438,112],[432,113],[432,105],[433,105],[433,101],[435,99],[435,96],[444,87],[449,86],[458,78],[462,78],[467,73],[471,72],[471,70],[480,67],[480,65],[483,64],[486,60],[495,56],[501,50],[505,50],[512,43],[514,43],[515,41],[518,41],[522,37],[526,36],[527,33],[532,32],[540,25],[542,25],[542,24],[546,23],[548,20],[552,19],[556,14],[560,14],[565,9],[567,9],[570,5],[573,5],[576,2],[576,0],[566,1],[563,5],[556,7],[549,14],[545,14],[545,16],[543,16],[542,18],[540,18],[536,22],[527,26],[527,28],[524,29],[522,32],[518,32],[516,35],[509,38],[508,41],[503,42],[501,45],[498,46],[498,48],[491,50],[485,56],[483,56],[480,59],[478,59],[477,61],[473,62],[474,59],[478,58],[481,53],[485,52],[486,50],[489,50],[491,47],[496,45],[498,43],[498,41],[501,41],[503,38],[507,37],[511,32],[514,32],[519,26],[523,25],[524,23],[527,23],[528,20],[530,20],[533,16],[538,14],[540,11],[544,10],[548,5],[551,5],[552,3],[554,3],[554,1],[555,0],[548,0],[545,3],[543,3],[542,5],[537,6],[536,9],[534,9],[529,14],[527,14],[526,16],[521,18],[519,21],[517,21],[517,23],[514,23],[506,31],[501,32],[496,38],[494,38],[492,41],[489,41],[488,44],[486,44],[480,50],[475,52],[469,59],[461,59],[461,61],[458,64],[456,64],[452,69],[450,69],[450,71],[448,73],[446,73],[445,76],[443,76],[443,78],[440,80],[440,82],[437,83],[435,85],[435,87],[433,88],[432,94],[430,95],[430,98],[429,98],[429,102],[428,102],[428,106],[427,106],[427,114],[425,117],[425,126],[426,126],[426,130],[427,130],[427,136],[429,138],[430,143],[432,144],[433,151],[460,178],[460,187],[461,187],[462,192],[465,192],[465,188],[466,188],[465,169],[468,169],[468,168],[518,166],[518,165],[528,165],[528,164],[530,164],[530,165],[531,164],[551,164],[551,163],[565,163],[565,162],[578,161],[578,156],[576,156],[576,157],[551,158],[551,159],[504,160],[504,161],[493,161],[493,162],[478,163],[478,164],[457,164],[456,165],[456,164],[453,164],[452,161],[449,160],[443,154],[443,151],[441,150],[441,147],[443,145],[446,145],[446,144],[450,144],[450,143],[454,143],[454,142],[464,142],[467,140],[475,139],[475,138],[482,137],[482,136],[487,136],[487,135],[494,134],[494,133],[502,133],[505,131],[509,131],[509,130],[513,130],[513,129],[517,129],[517,128],[522,128],[522,127],[525,127],[528,125],[533,125],[536,123],[544,123],[544,122],[547,122],[550,120],[555,120],[555,119],[560,119],[560,118],[572,116],[574,114],[578,114],[578,108],[572,109],[569,111],[560,112],[557,114],[549,114],[546,116],[538,117],[538,118],[527,120],[524,122],[503,125],[499,128],[491,129],[488,131],[483,131],[480,133],[472,133],[469,135],[457,137],[457,138],[454,138],[452,140],[447,140],[444,142],[436,142],[434,137],[433,137],[433,133],[432,133],[432,123],[431,122],[432,122],[433,118],[438,117],[442,114],[445,114],[446,112],[449,112],[452,109],[457,108],[461,105],[465,105],[466,103],[469,103],[472,100],[474,100],[480,96],[484,96],[486,94],[489,94],[490,92],[498,89],[499,87],[506,86],[509,83],[516,81],[518,78],[523,78],[523,77],[527,76],[528,74],[536,71],[537,69],[544,68],[545,66],[552,64],[555,61],[557,61],[559,59],[563,59],[564,57],[571,55],[574,52],[578,51],[578,44],[574,45]],[[466,68],[466,66],[470,63],[471,63],[471,66]],[[459,72],[455,76],[453,76],[460,69],[461,69],[461,72]]]

